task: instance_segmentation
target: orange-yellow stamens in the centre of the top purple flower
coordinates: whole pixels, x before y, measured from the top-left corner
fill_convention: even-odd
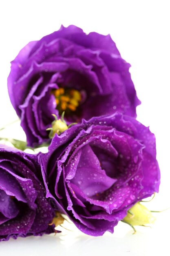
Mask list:
[[[60,115],[63,111],[76,111],[81,101],[81,94],[75,89],[65,89],[60,87],[57,90],[53,90],[52,93],[55,96],[57,110],[59,111]]]

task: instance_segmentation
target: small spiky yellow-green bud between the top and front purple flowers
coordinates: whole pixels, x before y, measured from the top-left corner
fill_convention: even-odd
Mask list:
[[[62,132],[70,128],[73,124],[76,124],[76,123],[73,123],[67,126],[66,121],[64,120],[64,112],[62,113],[61,119],[57,119],[57,116],[54,114],[53,114],[53,117],[55,118],[55,120],[51,124],[52,127],[46,129],[50,131],[49,133],[50,139],[54,137],[55,133],[57,133],[57,135],[60,135]]]

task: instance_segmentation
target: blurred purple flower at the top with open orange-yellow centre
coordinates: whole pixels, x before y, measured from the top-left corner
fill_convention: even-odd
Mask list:
[[[73,25],[26,45],[11,63],[8,90],[29,146],[47,141],[53,117],[68,124],[115,111],[136,116],[129,67],[110,38]]]

